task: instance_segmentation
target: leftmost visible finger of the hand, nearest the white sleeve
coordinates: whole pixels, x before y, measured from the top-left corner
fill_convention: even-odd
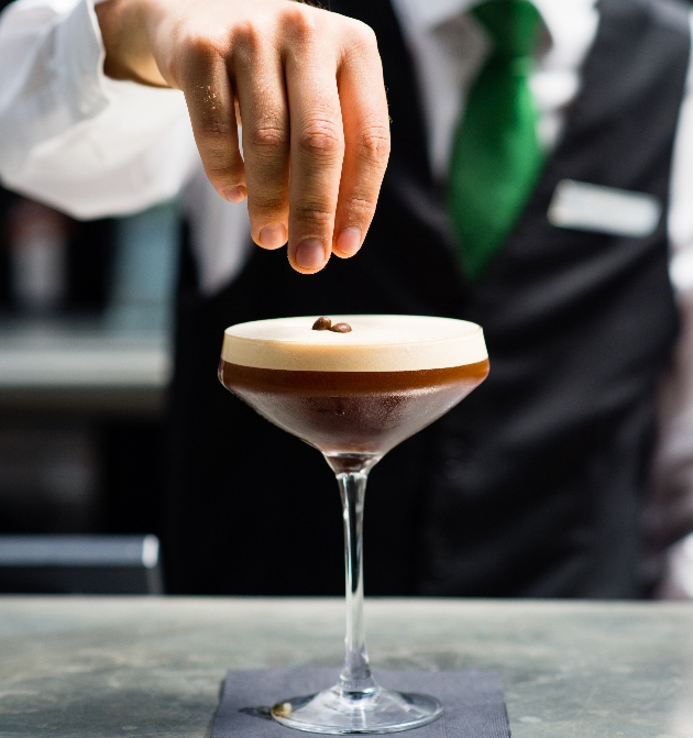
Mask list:
[[[240,202],[246,196],[245,170],[223,54],[210,44],[189,44],[178,76],[205,172],[223,198]]]

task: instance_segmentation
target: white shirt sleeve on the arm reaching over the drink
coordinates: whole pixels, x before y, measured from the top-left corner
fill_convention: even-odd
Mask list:
[[[0,15],[0,178],[77,218],[175,196],[199,168],[178,90],[116,81],[91,0],[16,0]]]

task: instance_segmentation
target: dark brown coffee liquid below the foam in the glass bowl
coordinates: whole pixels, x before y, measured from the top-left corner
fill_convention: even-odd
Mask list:
[[[221,383],[326,455],[381,456],[437,420],[488,374],[488,361],[403,372],[267,370],[223,361]]]

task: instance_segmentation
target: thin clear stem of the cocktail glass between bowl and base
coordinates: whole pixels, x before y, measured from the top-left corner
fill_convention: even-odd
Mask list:
[[[340,692],[361,698],[377,692],[371,676],[363,621],[363,500],[369,470],[337,474],[344,517],[344,563],[346,570],[346,638]]]

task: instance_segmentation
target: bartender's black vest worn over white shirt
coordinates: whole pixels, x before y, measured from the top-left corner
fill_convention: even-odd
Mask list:
[[[362,252],[316,276],[255,250],[233,285],[202,300],[188,271],[173,397],[172,588],[340,591],[337,489],[324,462],[223,396],[215,365],[221,331],[234,322],[393,312],[481,323],[492,370],[373,471],[366,592],[641,594],[653,397],[676,332],[666,219],[651,236],[629,239],[561,230],[546,213],[564,178],[649,192],[667,208],[688,9],[600,2],[562,141],[504,250],[471,287],[430,173],[394,13],[373,0],[331,8],[372,25],[384,59],[393,153],[378,209]]]

